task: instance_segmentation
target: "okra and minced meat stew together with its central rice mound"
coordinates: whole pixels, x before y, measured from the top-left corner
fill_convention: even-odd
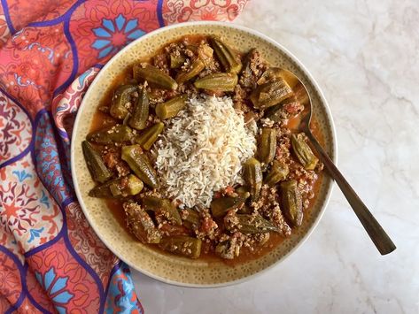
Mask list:
[[[89,196],[108,199],[136,241],[190,258],[244,260],[298,228],[322,164],[295,81],[257,49],[184,36],[129,66],[82,150]]]

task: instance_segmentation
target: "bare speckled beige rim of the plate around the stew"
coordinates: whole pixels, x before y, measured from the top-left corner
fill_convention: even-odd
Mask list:
[[[81,103],[75,120],[71,147],[74,188],[90,226],[105,245],[134,269],[170,284],[185,287],[220,287],[252,278],[283,261],[312,233],[329,201],[332,180],[323,175],[322,185],[313,207],[304,218],[304,223],[293,231],[291,237],[271,250],[267,255],[244,264],[229,266],[221,262],[207,263],[169,256],[133,240],[103,200],[88,196],[94,182],[81,152],[81,142],[89,132],[93,114],[98,103],[111,87],[113,79],[136,60],[152,55],[168,42],[185,34],[217,34],[232,47],[247,51],[257,47],[271,65],[280,66],[296,73],[305,83],[312,97],[314,117],[319,122],[324,147],[332,158],[336,157],[336,142],[333,121],[328,104],[313,77],[291,52],[267,36],[251,29],[219,22],[191,22],[160,28],[130,43],[113,57],[97,75]]]

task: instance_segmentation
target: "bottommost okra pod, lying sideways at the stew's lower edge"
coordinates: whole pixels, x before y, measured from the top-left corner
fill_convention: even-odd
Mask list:
[[[163,238],[159,248],[182,257],[198,258],[201,254],[202,241],[186,235],[176,235]]]

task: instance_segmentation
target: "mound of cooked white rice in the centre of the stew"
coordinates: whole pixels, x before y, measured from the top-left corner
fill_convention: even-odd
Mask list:
[[[208,207],[213,192],[243,182],[240,171],[256,149],[254,135],[230,97],[190,99],[156,143],[163,194],[187,207]]]

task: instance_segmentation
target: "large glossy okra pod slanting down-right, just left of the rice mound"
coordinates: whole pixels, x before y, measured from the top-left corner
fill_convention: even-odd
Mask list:
[[[157,173],[148,157],[143,154],[140,145],[124,146],[121,157],[146,185],[151,188],[159,188]]]

